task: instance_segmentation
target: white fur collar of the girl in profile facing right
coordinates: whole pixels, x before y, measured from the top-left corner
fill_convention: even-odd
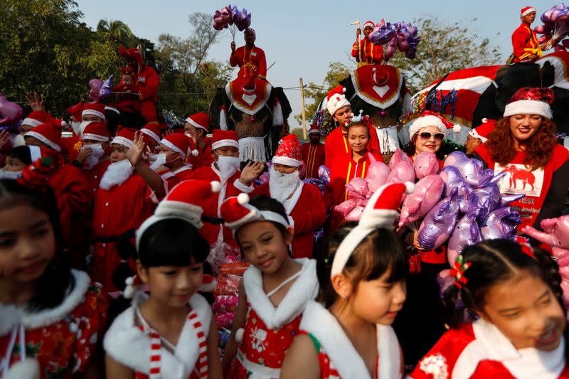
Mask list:
[[[378,324],[379,379],[401,378],[399,341],[391,326]],[[341,378],[370,379],[366,363],[344,333],[336,317],[317,301],[309,301],[300,321],[300,329],[311,333]]]

